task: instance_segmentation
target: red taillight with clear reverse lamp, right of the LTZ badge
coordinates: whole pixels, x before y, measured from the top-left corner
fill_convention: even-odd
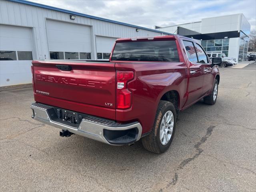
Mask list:
[[[116,71],[116,108],[128,109],[132,105],[132,93],[127,83],[134,78],[133,71]]]

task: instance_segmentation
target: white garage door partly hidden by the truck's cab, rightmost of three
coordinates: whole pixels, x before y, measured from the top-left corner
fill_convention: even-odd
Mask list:
[[[97,59],[109,59],[110,52],[117,38],[96,36]]]

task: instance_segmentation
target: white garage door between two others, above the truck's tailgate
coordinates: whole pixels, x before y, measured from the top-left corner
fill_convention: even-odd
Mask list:
[[[53,20],[46,24],[51,59],[91,59],[89,26]]]

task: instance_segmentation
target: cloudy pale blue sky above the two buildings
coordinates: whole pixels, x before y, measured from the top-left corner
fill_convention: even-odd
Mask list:
[[[256,29],[256,0],[30,0],[84,14],[154,28],[243,13]]]

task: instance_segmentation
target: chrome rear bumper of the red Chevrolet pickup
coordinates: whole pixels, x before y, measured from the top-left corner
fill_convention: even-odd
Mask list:
[[[120,124],[84,114],[85,116],[80,124],[74,127],[65,124],[64,121],[61,123],[52,120],[54,109],[56,109],[53,106],[32,103],[30,107],[33,110],[32,118],[34,120],[110,145],[124,145],[136,142],[142,134],[142,126],[139,122]],[[117,138],[113,136],[118,134],[121,136],[117,136]]]

